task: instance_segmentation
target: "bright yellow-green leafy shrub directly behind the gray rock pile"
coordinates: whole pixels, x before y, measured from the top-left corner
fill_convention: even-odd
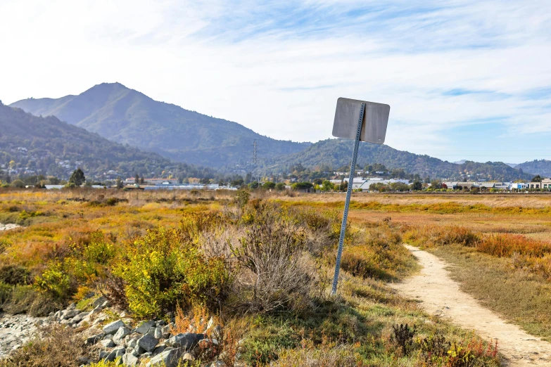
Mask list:
[[[178,303],[218,307],[229,286],[224,260],[205,258],[181,228],[156,228],[127,245],[114,273],[125,281],[129,308],[138,316],[175,311]]]

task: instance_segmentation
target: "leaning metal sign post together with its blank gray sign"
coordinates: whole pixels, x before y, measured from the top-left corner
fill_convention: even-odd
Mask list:
[[[348,188],[346,190],[346,201],[344,202],[341,236],[338,238],[335,274],[333,277],[333,288],[331,289],[332,295],[336,294],[338,273],[341,270],[341,257],[343,255],[350,195],[352,195],[352,186],[354,184],[357,150],[360,146],[360,141],[369,141],[377,144],[384,143],[390,110],[391,106],[382,103],[357,101],[348,98],[338,98],[337,100],[335,120],[333,123],[333,136],[354,139],[354,150],[352,153],[352,162],[350,163],[350,174],[348,175]],[[355,122],[357,122],[357,124]]]

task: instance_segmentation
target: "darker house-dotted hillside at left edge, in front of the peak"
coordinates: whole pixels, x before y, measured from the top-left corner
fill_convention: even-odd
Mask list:
[[[10,162],[13,161],[11,164]],[[0,103],[0,165],[12,175],[48,174],[68,178],[82,167],[96,179],[118,176],[177,177],[204,175],[213,171],[171,162],[156,153],[122,146],[98,134],[61,122],[57,117],[36,117]]]

